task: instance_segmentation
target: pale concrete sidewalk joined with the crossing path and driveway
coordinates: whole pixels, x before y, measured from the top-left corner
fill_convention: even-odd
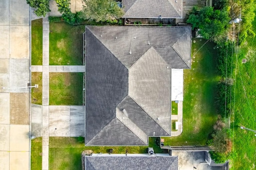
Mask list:
[[[49,66],[49,20],[42,20],[43,65],[31,66],[31,72],[42,72],[42,106],[31,105],[31,134],[42,136],[42,170],[48,170],[49,136],[84,136],[84,106],[49,106],[49,72],[84,72],[84,66]]]

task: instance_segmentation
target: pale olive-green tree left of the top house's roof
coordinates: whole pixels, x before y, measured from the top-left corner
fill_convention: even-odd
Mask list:
[[[79,16],[84,20],[110,21],[124,15],[124,11],[114,0],[84,0],[84,2],[86,5]]]

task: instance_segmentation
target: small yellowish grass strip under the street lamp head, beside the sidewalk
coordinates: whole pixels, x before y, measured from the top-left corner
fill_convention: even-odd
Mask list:
[[[38,84],[38,88],[31,88],[31,103],[42,105],[42,72],[31,72],[31,85]]]

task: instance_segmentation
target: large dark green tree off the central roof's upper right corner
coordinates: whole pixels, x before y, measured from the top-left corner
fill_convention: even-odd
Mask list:
[[[210,6],[206,6],[201,10],[197,10],[194,7],[187,20],[188,23],[192,24],[192,29],[199,29],[198,33],[205,39],[210,39],[210,37],[217,38],[223,35],[227,30],[229,21],[227,9],[214,10]]]

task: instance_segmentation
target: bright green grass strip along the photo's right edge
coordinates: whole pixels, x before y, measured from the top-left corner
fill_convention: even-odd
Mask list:
[[[253,25],[253,30],[255,31],[256,18],[254,19]],[[248,38],[247,42],[248,44],[240,49],[236,74],[234,138],[231,137],[235,151],[234,155],[237,155],[234,156],[231,154],[232,158],[234,156],[232,162],[232,169],[234,170],[253,170],[256,168],[255,133],[240,129],[240,125],[244,125],[249,129],[256,130],[256,121],[254,119],[256,118],[256,39]],[[243,58],[247,59],[247,63],[242,64],[241,61]],[[244,90],[246,91],[246,94],[244,93]],[[231,127],[233,127],[233,123],[231,124]]]

